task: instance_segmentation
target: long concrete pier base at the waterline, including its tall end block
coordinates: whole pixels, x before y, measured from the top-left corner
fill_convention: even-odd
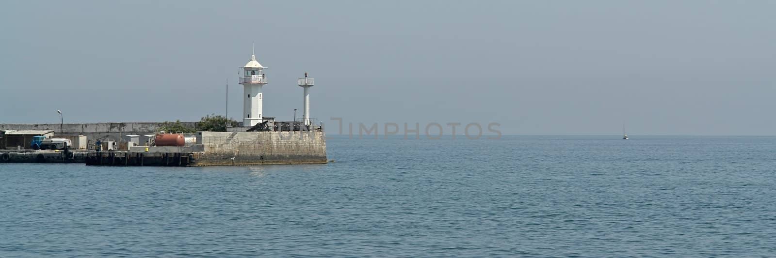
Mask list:
[[[0,150],[0,163],[88,166],[250,166],[327,163],[324,132],[198,132],[192,146],[137,146],[129,151]]]

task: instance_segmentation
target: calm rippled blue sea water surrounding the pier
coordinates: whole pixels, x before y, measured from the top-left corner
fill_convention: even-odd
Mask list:
[[[0,164],[0,256],[776,256],[776,137],[329,139],[325,165]]]

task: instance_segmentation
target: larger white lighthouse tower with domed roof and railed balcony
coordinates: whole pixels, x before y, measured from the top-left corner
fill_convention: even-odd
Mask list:
[[[256,54],[243,67],[243,126],[256,126],[262,122],[262,87],[267,84],[262,64],[258,64]]]

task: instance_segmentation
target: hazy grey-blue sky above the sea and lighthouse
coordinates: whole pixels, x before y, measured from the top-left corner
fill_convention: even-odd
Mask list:
[[[9,1],[0,122],[265,116],[508,134],[774,135],[773,1]],[[421,128],[422,129],[422,128]],[[336,130],[336,128],[334,128]],[[445,134],[449,131],[445,131]]]

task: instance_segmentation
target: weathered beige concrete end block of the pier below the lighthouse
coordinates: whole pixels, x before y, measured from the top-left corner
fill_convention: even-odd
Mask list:
[[[196,165],[327,163],[324,132],[198,132]]]

